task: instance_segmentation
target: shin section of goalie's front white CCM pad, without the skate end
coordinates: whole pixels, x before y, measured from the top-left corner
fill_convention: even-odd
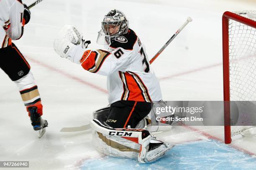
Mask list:
[[[138,158],[142,141],[151,135],[143,129],[114,129],[102,125],[99,120],[91,121],[93,143],[105,155],[117,158]]]

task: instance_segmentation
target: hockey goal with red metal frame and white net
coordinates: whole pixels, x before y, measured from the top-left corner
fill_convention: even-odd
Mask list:
[[[225,12],[222,29],[224,101],[256,101],[256,11]],[[229,102],[224,104],[224,122],[226,144],[252,127],[230,126]]]

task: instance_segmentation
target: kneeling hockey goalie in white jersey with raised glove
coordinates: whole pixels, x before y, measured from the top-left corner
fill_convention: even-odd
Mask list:
[[[150,113],[151,103],[162,98],[145,47],[120,10],[105,15],[97,42],[105,50],[90,49],[90,41],[83,40],[71,25],[64,26],[54,41],[54,50],[61,57],[107,76],[110,106],[94,112],[93,143],[108,156],[135,158],[140,163],[158,160],[174,145],[139,127]]]

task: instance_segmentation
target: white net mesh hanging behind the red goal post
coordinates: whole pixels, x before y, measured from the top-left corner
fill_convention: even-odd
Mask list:
[[[256,22],[256,11],[233,12]],[[248,107],[256,101],[256,29],[229,20],[230,100],[239,102],[238,125],[250,125],[256,115],[248,114]],[[253,126],[232,126],[231,136]]]

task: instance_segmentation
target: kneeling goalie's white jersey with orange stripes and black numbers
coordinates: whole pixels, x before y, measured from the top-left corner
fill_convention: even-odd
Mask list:
[[[119,100],[161,100],[159,80],[148,62],[145,47],[133,30],[113,40],[108,50],[73,46],[61,40],[54,42],[54,50],[62,57],[81,64],[89,72],[107,76],[110,104]]]

